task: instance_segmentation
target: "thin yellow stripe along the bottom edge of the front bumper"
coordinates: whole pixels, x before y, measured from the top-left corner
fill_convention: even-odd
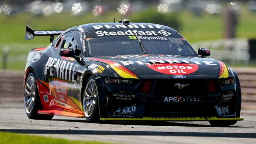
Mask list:
[[[143,117],[143,118],[100,118],[100,120],[165,120],[165,121],[209,121],[209,120],[244,120],[244,118],[217,117]]]

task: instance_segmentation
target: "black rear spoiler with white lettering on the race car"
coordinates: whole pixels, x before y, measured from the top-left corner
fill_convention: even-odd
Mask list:
[[[25,40],[31,40],[34,36],[50,35],[50,42],[53,41],[54,35],[60,35],[64,31],[34,31],[31,27],[26,26]]]

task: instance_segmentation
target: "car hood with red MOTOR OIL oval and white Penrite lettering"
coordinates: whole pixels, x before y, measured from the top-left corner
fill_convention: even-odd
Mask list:
[[[172,55],[91,57],[110,66],[123,78],[222,78],[229,68],[210,58]],[[224,71],[225,70],[225,71]]]

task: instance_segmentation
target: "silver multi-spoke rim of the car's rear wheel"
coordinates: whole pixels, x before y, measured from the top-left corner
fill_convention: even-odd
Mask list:
[[[35,94],[36,94],[36,87],[35,87],[35,80],[33,76],[28,77],[25,85],[25,94],[24,94],[24,104],[26,113],[31,113],[35,103]]]

